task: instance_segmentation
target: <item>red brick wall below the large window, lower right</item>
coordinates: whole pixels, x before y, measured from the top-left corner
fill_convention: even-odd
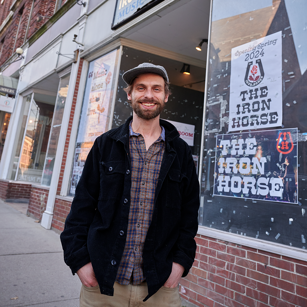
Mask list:
[[[307,262],[197,235],[181,296],[200,307],[307,307]]]

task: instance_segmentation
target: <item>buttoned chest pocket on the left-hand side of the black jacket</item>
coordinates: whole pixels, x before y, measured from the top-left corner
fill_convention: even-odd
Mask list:
[[[124,190],[125,162],[99,162],[100,192],[99,200],[118,200]]]

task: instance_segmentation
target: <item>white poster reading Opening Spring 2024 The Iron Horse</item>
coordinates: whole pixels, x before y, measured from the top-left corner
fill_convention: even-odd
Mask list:
[[[231,49],[228,131],[282,125],[282,32]]]

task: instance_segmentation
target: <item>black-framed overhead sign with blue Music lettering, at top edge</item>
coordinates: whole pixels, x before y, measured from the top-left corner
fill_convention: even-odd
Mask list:
[[[143,14],[163,0],[117,0],[112,30]]]

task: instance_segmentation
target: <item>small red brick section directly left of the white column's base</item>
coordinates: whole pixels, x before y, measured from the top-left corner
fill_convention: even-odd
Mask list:
[[[33,187],[29,200],[27,214],[41,220],[43,212],[46,209],[49,191]]]

